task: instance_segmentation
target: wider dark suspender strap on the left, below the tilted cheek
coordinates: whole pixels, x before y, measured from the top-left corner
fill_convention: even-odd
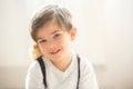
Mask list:
[[[47,77],[45,77],[45,65],[44,65],[44,61],[42,60],[41,57],[39,57],[37,60],[40,63],[40,67],[41,67],[41,70],[42,70],[42,75],[43,75],[43,83],[44,83],[44,86],[47,88]]]

